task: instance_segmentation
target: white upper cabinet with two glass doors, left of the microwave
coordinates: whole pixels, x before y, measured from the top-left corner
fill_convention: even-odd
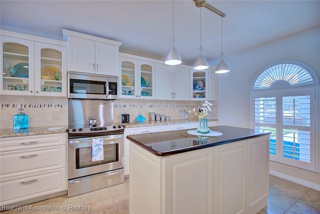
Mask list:
[[[64,42],[1,31],[0,53],[0,94],[66,96]]]

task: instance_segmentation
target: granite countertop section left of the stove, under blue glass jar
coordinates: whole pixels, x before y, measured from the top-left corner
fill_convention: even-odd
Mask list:
[[[48,128],[63,127],[58,130],[48,130]],[[20,136],[30,136],[30,135],[42,135],[42,134],[58,134],[65,133],[67,126],[43,126],[43,127],[30,127],[27,129],[0,129],[0,138],[4,137],[20,137]]]

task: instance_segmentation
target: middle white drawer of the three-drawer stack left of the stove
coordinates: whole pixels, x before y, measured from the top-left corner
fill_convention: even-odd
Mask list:
[[[66,146],[50,146],[0,153],[0,177],[66,167]]]

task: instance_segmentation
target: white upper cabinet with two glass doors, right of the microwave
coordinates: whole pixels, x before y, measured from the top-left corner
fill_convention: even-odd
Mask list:
[[[125,56],[125,57],[122,57]],[[153,62],[139,60],[133,55],[121,54],[119,57],[121,93],[120,98],[154,99]]]

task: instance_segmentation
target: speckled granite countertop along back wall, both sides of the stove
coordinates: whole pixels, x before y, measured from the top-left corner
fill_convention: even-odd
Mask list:
[[[217,121],[217,119],[208,119],[210,121]],[[182,124],[182,123],[195,123],[198,122],[198,119],[177,119],[177,120],[169,120],[169,121],[144,121],[144,122],[131,122],[131,123],[123,123],[125,128],[134,128],[134,127],[145,127],[145,126],[159,126],[159,125],[172,125],[172,124]],[[121,123],[119,123],[121,124]],[[118,124],[116,124],[118,125]],[[19,136],[29,136],[29,135],[42,135],[42,134],[57,134],[57,133],[66,133],[68,126],[53,126],[53,127],[63,127],[59,130],[48,130],[52,126],[44,126],[44,127],[30,127],[28,129],[20,129],[13,130],[11,129],[0,129],[0,138],[4,137],[19,137]]]

